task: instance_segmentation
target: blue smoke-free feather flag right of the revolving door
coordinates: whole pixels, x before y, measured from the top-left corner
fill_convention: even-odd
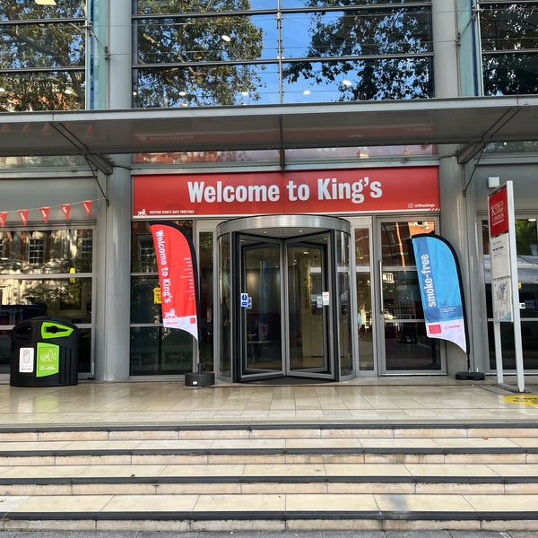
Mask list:
[[[467,352],[464,299],[454,249],[433,233],[413,236],[412,247],[428,336],[456,343]]]

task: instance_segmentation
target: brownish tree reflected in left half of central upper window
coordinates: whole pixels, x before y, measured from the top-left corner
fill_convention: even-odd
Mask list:
[[[237,105],[241,92],[259,99],[263,30],[248,15],[247,0],[144,0],[148,13],[136,27],[139,107]],[[208,8],[208,4],[210,7]],[[211,14],[199,12],[211,11]],[[151,14],[169,15],[152,18]],[[195,13],[185,16],[181,13]],[[227,62],[226,65],[223,65]]]

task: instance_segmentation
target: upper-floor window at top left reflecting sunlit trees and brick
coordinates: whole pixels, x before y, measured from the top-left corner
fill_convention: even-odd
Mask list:
[[[0,111],[84,108],[84,0],[0,2]]]

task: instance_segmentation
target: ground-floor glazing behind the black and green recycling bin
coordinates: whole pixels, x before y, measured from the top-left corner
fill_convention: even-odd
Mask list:
[[[79,372],[91,373],[93,230],[0,231],[0,373],[14,325],[36,316],[79,326]]]

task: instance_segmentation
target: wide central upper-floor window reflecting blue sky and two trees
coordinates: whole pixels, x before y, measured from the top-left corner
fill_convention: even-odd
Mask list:
[[[199,107],[433,95],[431,2],[140,0],[134,104]]]

